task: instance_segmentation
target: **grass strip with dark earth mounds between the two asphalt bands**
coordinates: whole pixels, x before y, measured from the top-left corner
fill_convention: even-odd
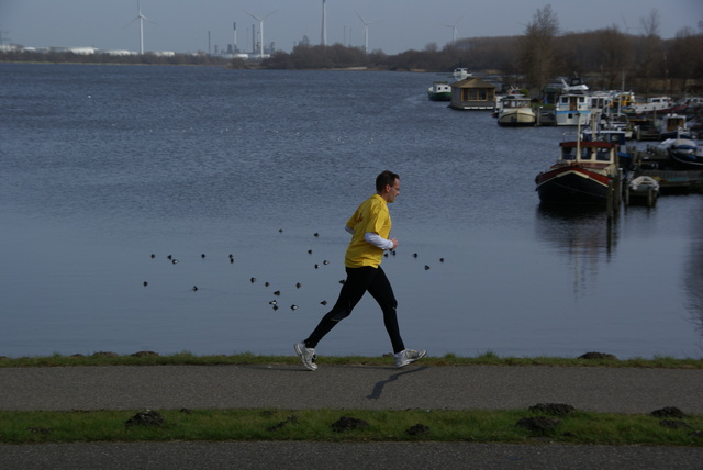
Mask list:
[[[135,413],[3,411],[0,444],[311,440],[703,446],[703,416],[662,419],[576,411],[547,418],[532,410],[165,410],[148,412],[163,419],[157,424],[126,425]],[[558,424],[531,429],[517,424],[524,418],[557,419]]]

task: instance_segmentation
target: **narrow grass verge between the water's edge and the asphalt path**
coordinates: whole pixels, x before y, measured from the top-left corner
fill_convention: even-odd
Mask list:
[[[321,356],[322,366],[388,366],[389,357],[337,357]],[[96,352],[91,356],[46,357],[0,357],[0,367],[69,367],[69,366],[226,366],[226,365],[289,365],[298,366],[299,359],[292,351],[290,356],[260,356],[248,352],[233,356],[196,356],[188,351],[170,355],[126,355],[118,356]],[[676,359],[654,357],[651,359],[578,359],[554,357],[500,357],[488,351],[477,357],[460,357],[447,354],[442,357],[426,357],[425,366],[553,366],[553,367],[637,367],[662,369],[703,369],[703,358]]]

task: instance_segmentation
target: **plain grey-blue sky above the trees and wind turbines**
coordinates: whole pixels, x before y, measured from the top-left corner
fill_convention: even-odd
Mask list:
[[[264,43],[291,51],[308,36],[320,44],[322,0],[140,0],[145,22],[145,51],[181,53],[208,51],[209,45],[252,49],[252,27],[264,18]],[[327,44],[364,46],[364,23],[369,49],[397,54],[443,47],[458,37],[518,35],[537,9],[551,4],[565,32],[593,31],[617,25],[641,33],[640,20],[659,13],[659,34],[674,37],[688,26],[700,32],[702,0],[327,0]],[[355,12],[356,11],[356,12]],[[140,48],[136,0],[0,0],[3,43],[47,47],[93,46],[102,49]],[[210,37],[210,43],[209,43]]]

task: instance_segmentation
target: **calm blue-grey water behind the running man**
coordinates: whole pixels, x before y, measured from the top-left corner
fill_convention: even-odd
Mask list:
[[[336,299],[344,223],[392,169],[383,266],[409,347],[701,357],[703,197],[613,223],[540,210],[565,130],[451,111],[434,79],[0,65],[0,355],[292,354]],[[319,346],[389,350],[370,299]]]

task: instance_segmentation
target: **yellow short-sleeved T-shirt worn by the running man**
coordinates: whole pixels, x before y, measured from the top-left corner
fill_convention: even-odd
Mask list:
[[[352,242],[344,257],[344,266],[347,268],[361,268],[372,266],[378,268],[383,259],[383,249],[378,248],[364,239],[367,232],[377,233],[387,238],[391,234],[391,215],[388,212],[388,203],[378,194],[364,201],[347,226],[354,231]]]

